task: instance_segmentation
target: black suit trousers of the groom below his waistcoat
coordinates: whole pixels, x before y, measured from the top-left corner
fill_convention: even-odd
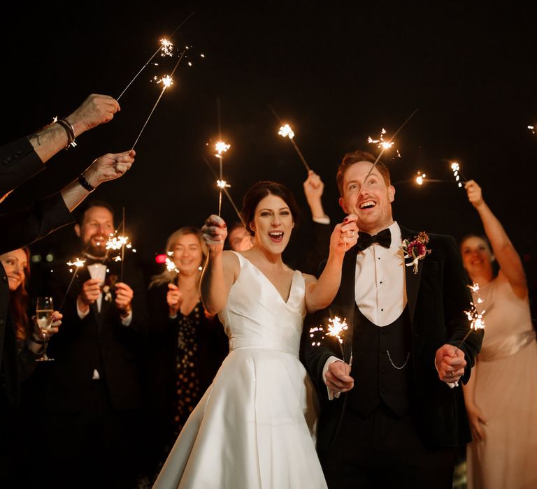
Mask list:
[[[424,446],[410,414],[380,404],[365,418],[346,409],[320,459],[329,489],[451,489],[455,448]]]

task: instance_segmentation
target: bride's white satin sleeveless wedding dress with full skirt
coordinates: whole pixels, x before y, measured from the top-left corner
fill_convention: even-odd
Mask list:
[[[241,256],[220,320],[230,353],[182,429],[154,488],[326,488],[315,392],[299,361],[305,284],[287,302]]]

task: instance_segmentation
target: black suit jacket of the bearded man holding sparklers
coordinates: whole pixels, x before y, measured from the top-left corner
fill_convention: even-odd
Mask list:
[[[110,277],[119,282],[120,263],[107,265],[110,272],[106,282],[110,282]],[[47,290],[54,298],[55,307],[62,304],[72,278],[67,265],[58,265],[50,274]],[[88,279],[87,268],[80,268],[62,307],[62,326],[48,346],[48,356],[55,361],[39,365],[35,373],[40,371],[40,379],[35,384],[44,387],[42,395],[49,412],[82,411],[92,390],[94,368],[99,369],[101,379],[106,383],[114,409],[135,409],[141,402],[138,349],[143,342],[148,310],[141,270],[133,257],[126,257],[123,282],[134,291],[129,326],[122,324],[114,303],[115,295],[110,300],[103,298],[101,312],[97,311],[95,303],[90,305],[90,313],[80,319],[76,298]]]

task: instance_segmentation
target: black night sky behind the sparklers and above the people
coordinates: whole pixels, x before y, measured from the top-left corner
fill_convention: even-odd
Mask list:
[[[343,216],[335,184],[343,154],[377,152],[367,136],[385,128],[389,138],[417,108],[396,138],[401,159],[392,158],[394,149],[383,158],[392,180],[412,180],[417,170],[453,180],[447,161],[459,161],[506,227],[535,295],[537,135],[527,129],[537,126],[533,6],[79,1],[10,3],[2,10],[5,141],[35,131],[54,115],[69,115],[90,93],[117,97],[159,39],[194,13],[173,37],[176,46],[192,45],[186,61],[193,66],[178,67],[136,145],[134,168],[92,196],[119,214],[125,207],[128,234],[146,265],[176,228],[201,226],[217,212],[215,178],[203,156],[218,169],[206,146],[218,135],[218,98],[222,138],[231,143],[224,159],[231,196],[240,207],[253,182],[283,182],[294,191],[305,221],[306,172],[289,140],[278,136],[268,105],[292,125],[296,143],[326,183],[323,202],[333,222]],[[155,58],[159,66],[145,68],[120,99],[122,110],[113,121],[80,136],[76,149],[55,156],[15,198],[49,194],[97,156],[129,149],[160,93],[151,78],[170,73],[176,59]],[[222,215],[236,220],[225,198]],[[394,218],[457,240],[482,229],[454,183],[396,184]],[[303,243],[295,240],[295,250]],[[43,256],[72,250],[70,227],[32,246]]]

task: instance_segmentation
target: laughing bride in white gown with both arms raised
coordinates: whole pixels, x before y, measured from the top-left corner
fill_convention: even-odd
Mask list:
[[[319,280],[282,261],[298,208],[286,187],[258,182],[243,217],[255,245],[223,251],[227,228],[210,216],[201,298],[218,313],[230,353],[189,416],[154,488],[326,488],[315,453],[315,393],[299,361],[306,312],[327,307],[345,251],[357,241],[355,216],[337,224]]]

